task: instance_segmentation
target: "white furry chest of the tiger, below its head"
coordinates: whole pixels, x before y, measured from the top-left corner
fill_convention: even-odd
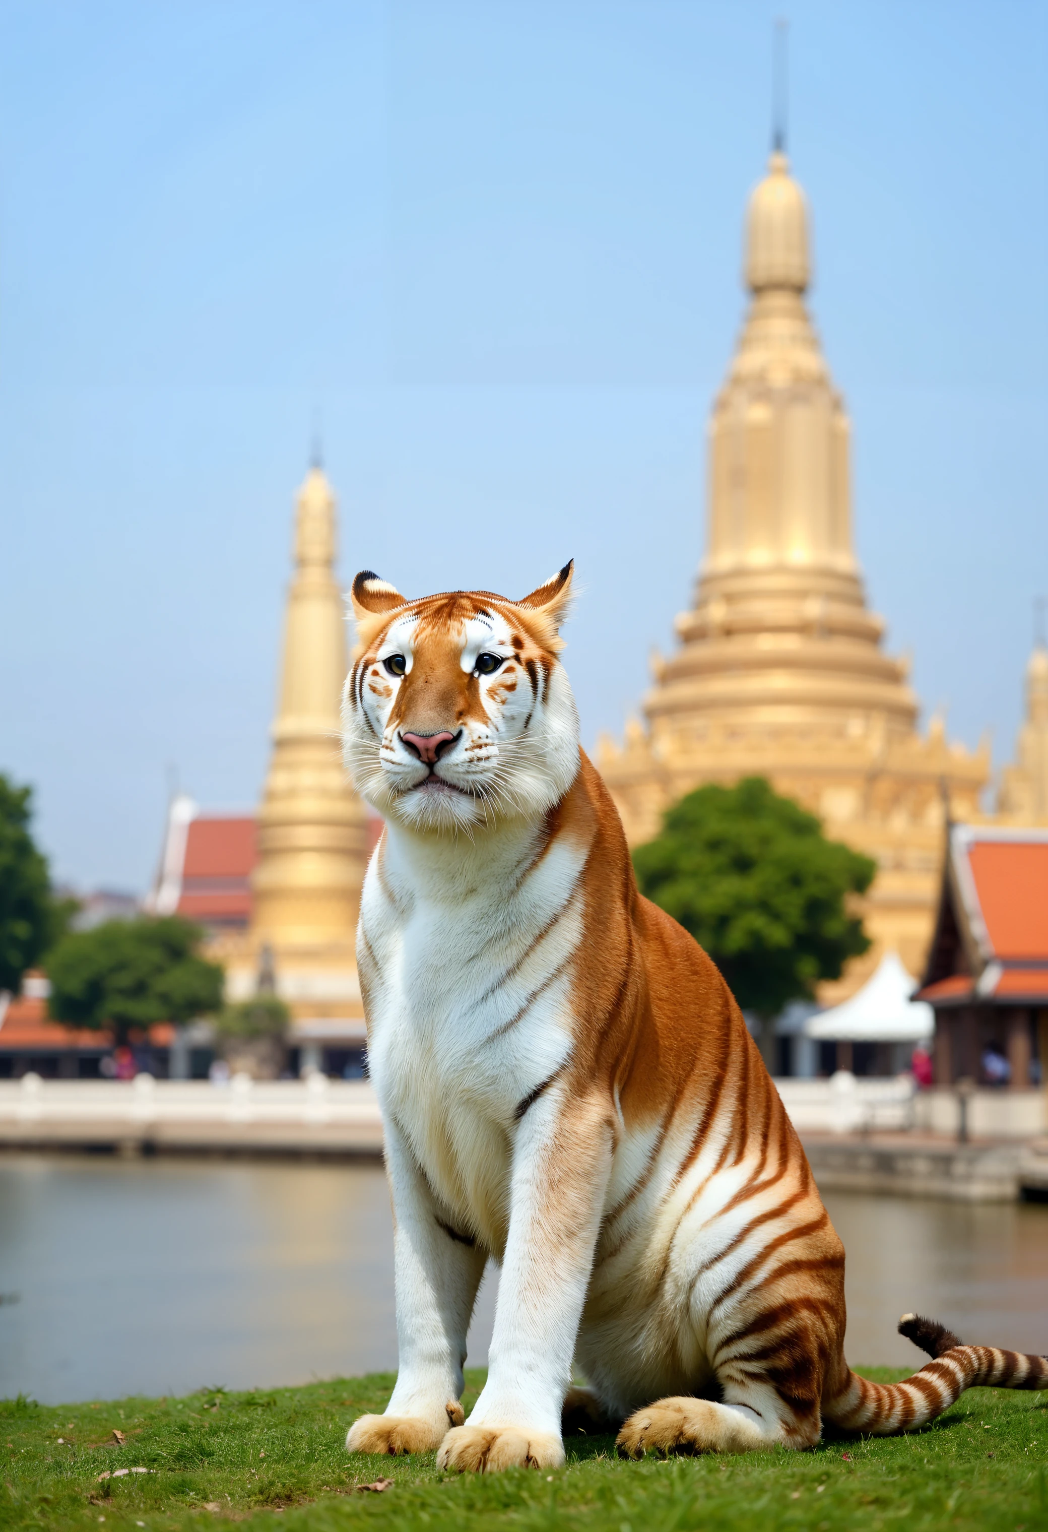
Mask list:
[[[533,832],[461,846],[388,830],[365,881],[371,1077],[449,1213],[499,1255],[516,1109],[568,1057],[584,853]]]

